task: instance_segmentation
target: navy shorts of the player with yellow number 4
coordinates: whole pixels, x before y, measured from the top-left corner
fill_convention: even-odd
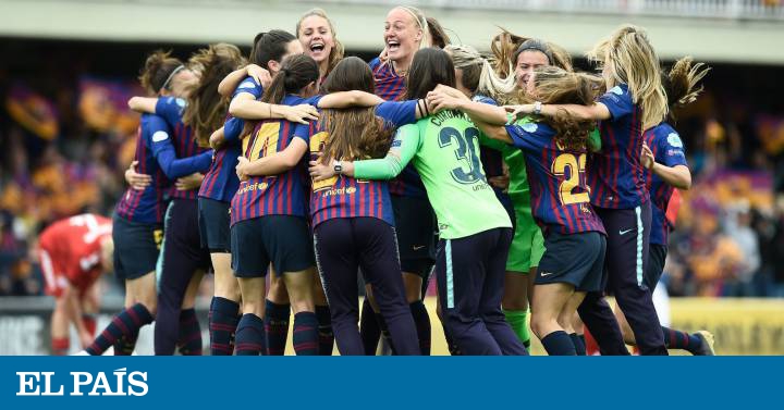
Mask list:
[[[277,274],[316,265],[313,235],[302,216],[268,215],[231,227],[232,270],[236,277],[265,277],[270,262]]]

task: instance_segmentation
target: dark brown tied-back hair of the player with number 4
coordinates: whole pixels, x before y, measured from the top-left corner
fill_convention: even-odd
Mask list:
[[[272,78],[272,84],[265,90],[261,101],[280,104],[286,94],[296,94],[308,84],[318,80],[319,71],[316,60],[305,54],[290,55],[283,60],[280,72]]]

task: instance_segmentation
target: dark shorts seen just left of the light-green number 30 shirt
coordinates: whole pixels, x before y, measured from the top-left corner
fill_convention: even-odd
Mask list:
[[[401,270],[427,279],[436,263],[438,226],[430,201],[392,196]]]

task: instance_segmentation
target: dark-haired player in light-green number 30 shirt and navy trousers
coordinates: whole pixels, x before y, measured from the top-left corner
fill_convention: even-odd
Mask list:
[[[452,60],[442,50],[419,50],[406,98],[424,98],[438,84],[454,86]],[[466,355],[526,355],[501,311],[512,223],[486,182],[478,136],[465,115],[448,110],[402,127],[384,159],[317,164],[311,175],[389,179],[413,160],[438,215],[434,270],[450,334]]]

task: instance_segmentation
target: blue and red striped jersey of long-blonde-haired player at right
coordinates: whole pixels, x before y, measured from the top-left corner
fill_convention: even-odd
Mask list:
[[[639,207],[650,199],[640,163],[642,111],[625,84],[610,89],[598,102],[610,110],[611,119],[600,122],[602,149],[588,160],[591,203],[609,209]]]

